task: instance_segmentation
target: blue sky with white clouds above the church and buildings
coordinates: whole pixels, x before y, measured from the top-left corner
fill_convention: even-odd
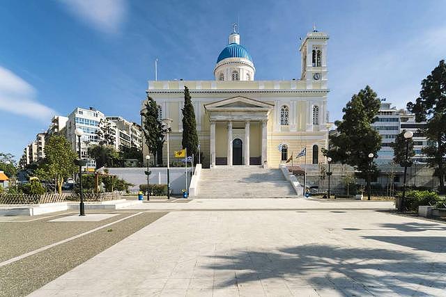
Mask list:
[[[446,1],[3,0],[0,152],[20,158],[54,114],[75,106],[139,122],[146,81],[213,79],[239,22],[256,79],[298,79],[299,37],[328,45],[331,120],[369,84],[398,107],[445,58]]]

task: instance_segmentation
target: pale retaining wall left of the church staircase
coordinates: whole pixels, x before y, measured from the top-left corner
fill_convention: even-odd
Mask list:
[[[121,179],[124,179],[126,182],[130,182],[134,184],[130,188],[131,191],[138,191],[140,184],[147,184],[147,176],[144,174],[144,171],[147,168],[108,168],[109,173],[112,175],[117,175]],[[150,176],[149,183],[150,184],[167,184],[167,168],[149,168],[152,171]],[[192,169],[187,168],[189,172],[189,177],[187,177],[187,186],[190,184],[190,179],[192,175]],[[171,184],[171,193],[180,194],[183,188],[186,188],[186,175],[185,168],[170,168],[170,184]]]

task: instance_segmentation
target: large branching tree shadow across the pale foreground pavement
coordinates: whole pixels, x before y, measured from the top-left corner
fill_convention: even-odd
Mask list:
[[[442,277],[445,263],[381,248],[306,245],[269,252],[234,251],[215,256],[215,264],[208,268],[235,271],[236,283],[242,286],[259,280],[276,281],[289,287],[339,289],[359,296],[383,289],[405,296],[420,294],[420,284],[428,288],[446,287],[446,278]],[[215,282],[219,287],[233,284],[233,279]]]

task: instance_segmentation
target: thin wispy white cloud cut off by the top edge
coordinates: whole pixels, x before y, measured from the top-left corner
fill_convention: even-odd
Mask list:
[[[127,13],[125,0],[61,0],[82,21],[105,33],[116,33]]]

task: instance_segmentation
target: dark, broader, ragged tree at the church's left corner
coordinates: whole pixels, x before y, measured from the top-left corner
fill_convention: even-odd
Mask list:
[[[162,145],[166,128],[162,124],[159,116],[158,106],[152,97],[147,95],[143,117],[143,133],[146,139],[148,151],[155,156],[156,163],[162,163]]]

